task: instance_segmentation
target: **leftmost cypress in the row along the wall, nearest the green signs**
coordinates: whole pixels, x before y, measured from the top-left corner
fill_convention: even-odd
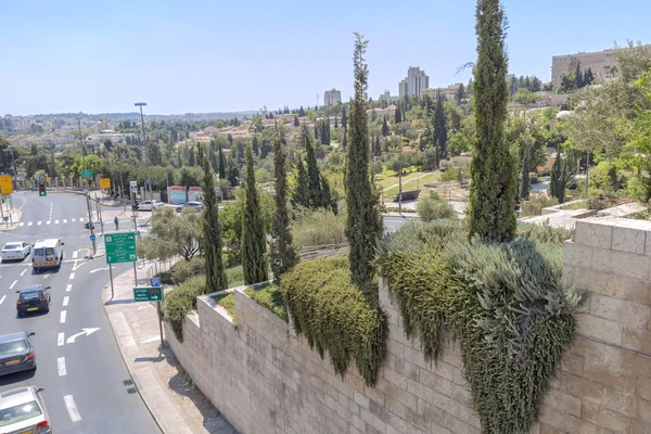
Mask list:
[[[213,153],[215,155],[215,153]],[[202,235],[204,245],[202,251],[205,259],[206,294],[226,290],[228,280],[224,261],[221,259],[221,225],[219,224],[215,173],[208,158],[203,162],[203,221]]]

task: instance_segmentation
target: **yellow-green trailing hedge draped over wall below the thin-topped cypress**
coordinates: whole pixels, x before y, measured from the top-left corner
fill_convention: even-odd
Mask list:
[[[283,296],[297,333],[345,374],[350,360],[367,385],[378,381],[386,355],[386,315],[350,281],[348,259],[299,263],[282,278]]]

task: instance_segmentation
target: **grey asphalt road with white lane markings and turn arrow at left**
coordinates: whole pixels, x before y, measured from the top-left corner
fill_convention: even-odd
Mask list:
[[[23,206],[23,225],[13,231],[0,226],[0,245],[60,238],[65,243],[64,264],[59,271],[38,275],[30,257],[24,263],[0,264],[0,333],[35,332],[38,366],[34,373],[0,376],[0,392],[21,385],[43,387],[58,434],[159,433],[130,383],[102,306],[101,292],[108,282],[105,257],[85,258],[91,247],[90,233],[84,229],[86,199],[24,192],[14,193],[13,203]],[[129,268],[130,264],[114,267],[114,276]],[[15,291],[35,283],[52,288],[50,311],[17,318]]]

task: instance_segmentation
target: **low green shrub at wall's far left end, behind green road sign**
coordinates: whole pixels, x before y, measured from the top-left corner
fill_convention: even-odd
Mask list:
[[[205,277],[195,276],[165,294],[163,316],[179,342],[183,342],[183,319],[196,309],[196,297],[204,293],[205,288]]]

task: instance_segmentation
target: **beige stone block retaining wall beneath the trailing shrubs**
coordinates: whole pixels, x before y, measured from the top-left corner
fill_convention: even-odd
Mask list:
[[[651,434],[651,224],[580,221],[565,245],[564,272],[586,290],[578,330],[532,434]],[[388,354],[378,385],[354,366],[342,379],[290,324],[235,290],[238,328],[210,296],[186,318],[184,342],[166,336],[200,390],[242,434],[480,433],[447,342],[435,366],[405,339],[386,288]]]

